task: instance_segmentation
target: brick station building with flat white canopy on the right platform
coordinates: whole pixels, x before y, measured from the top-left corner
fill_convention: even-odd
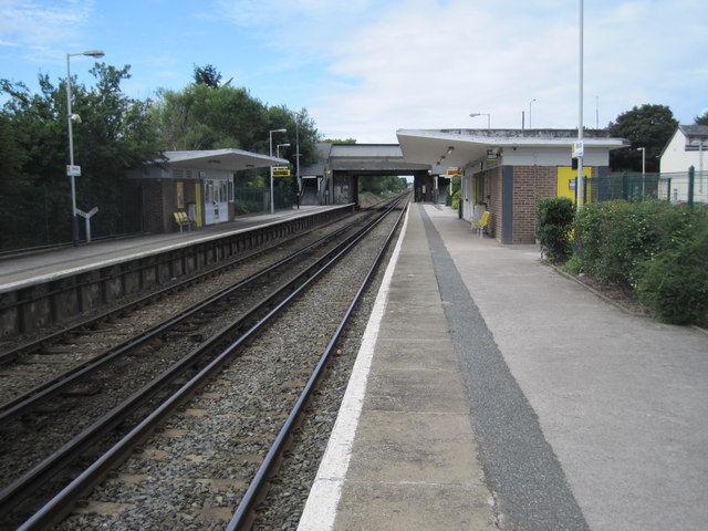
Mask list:
[[[572,168],[576,129],[398,129],[404,158],[433,165],[431,174],[462,176],[462,218],[490,212],[488,232],[501,243],[535,241],[539,199],[575,200]],[[629,142],[605,129],[584,131],[583,176],[586,201],[597,197],[592,177],[610,175],[610,150]],[[414,184],[415,186],[415,184]]]

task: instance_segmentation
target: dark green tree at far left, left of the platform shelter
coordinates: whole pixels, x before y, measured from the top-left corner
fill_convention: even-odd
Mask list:
[[[74,160],[82,168],[75,179],[76,206],[84,211],[98,207],[101,214],[92,220],[95,236],[127,230],[118,180],[126,169],[159,155],[147,103],[121,91],[128,71],[129,66],[96,63],[91,70],[94,87],[72,80],[72,113],[81,117],[72,135]],[[67,241],[71,236],[71,195],[64,170],[69,162],[66,83],[54,86],[44,75],[39,84],[40,92],[32,94],[22,83],[0,83],[8,95],[0,129],[9,126],[12,133],[0,140],[12,153],[11,169],[3,171],[3,185],[12,191],[11,198],[6,196],[12,201],[12,219],[0,222],[17,229],[0,235],[4,247]]]

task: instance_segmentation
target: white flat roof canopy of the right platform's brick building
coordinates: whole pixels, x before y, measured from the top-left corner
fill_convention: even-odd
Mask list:
[[[488,149],[500,147],[570,147],[577,140],[576,129],[398,129],[396,132],[406,160],[449,166],[465,166],[481,159]],[[583,132],[585,147],[617,149],[629,142],[610,136],[606,129]]]

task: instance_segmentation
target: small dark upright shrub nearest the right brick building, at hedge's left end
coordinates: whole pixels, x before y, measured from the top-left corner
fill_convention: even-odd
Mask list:
[[[537,208],[535,232],[541,252],[551,262],[563,262],[570,257],[575,207],[566,197],[541,199]]]

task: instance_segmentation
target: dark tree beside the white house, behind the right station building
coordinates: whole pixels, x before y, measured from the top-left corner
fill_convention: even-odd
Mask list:
[[[646,170],[657,173],[659,155],[676,127],[678,122],[666,105],[645,104],[621,114],[615,123],[610,124],[610,133],[628,139],[632,145],[610,152],[610,166],[615,170],[642,171],[642,152],[637,148],[644,147]]]

